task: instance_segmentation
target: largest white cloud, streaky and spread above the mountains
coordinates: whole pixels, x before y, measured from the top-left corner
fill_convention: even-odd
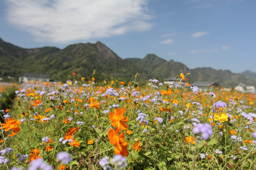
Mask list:
[[[6,19],[38,41],[76,40],[145,31],[148,0],[6,0]]]

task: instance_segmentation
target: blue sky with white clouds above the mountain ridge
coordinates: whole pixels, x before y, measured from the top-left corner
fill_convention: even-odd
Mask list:
[[[101,41],[122,59],[256,72],[256,1],[1,0],[0,37],[27,49]]]

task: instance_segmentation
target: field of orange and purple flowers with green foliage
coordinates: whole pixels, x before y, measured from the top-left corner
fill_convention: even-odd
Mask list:
[[[256,94],[137,78],[21,84],[0,110],[0,169],[256,169]]]

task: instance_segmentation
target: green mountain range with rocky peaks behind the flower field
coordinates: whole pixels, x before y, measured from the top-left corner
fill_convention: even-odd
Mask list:
[[[181,72],[190,72],[190,82],[212,81],[222,87],[234,87],[239,83],[256,86],[256,73],[249,70],[235,74],[230,70],[213,68],[190,69],[180,62],[166,61],[154,54],[148,54],[143,59],[122,59],[100,41],[68,45],[64,49],[24,49],[0,38],[0,61],[0,77],[4,79],[13,76],[18,80],[24,72],[50,74],[51,79],[61,81],[72,78],[71,73],[75,72],[76,78],[89,79],[96,69],[98,80],[110,80],[111,75],[122,80],[133,80],[139,72],[139,82],[146,83],[148,79],[163,80],[176,77]]]

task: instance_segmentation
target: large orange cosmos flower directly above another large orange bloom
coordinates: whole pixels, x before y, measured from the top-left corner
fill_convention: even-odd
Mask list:
[[[124,122],[128,122],[129,118],[128,117],[124,117],[124,109],[114,109],[113,113],[112,111],[109,113],[109,119],[111,120],[111,125],[113,127],[117,127],[117,129],[119,131],[121,131],[121,129],[123,130],[127,130],[128,125],[124,124]]]

